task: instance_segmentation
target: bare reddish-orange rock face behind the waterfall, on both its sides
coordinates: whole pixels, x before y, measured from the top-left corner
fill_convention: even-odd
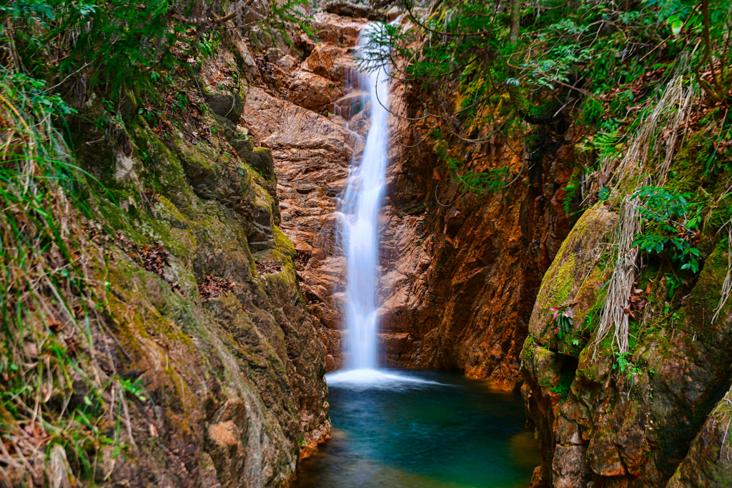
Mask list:
[[[281,227],[298,252],[298,277],[326,347],[328,370],[342,364],[346,263],[337,245],[337,197],[346,187],[348,165],[363,149],[370,113],[352,61],[366,22],[316,15],[324,42],[299,64],[277,53],[282,57],[272,59],[272,74],[265,77],[278,88],[250,91],[242,116],[275,156]],[[325,86],[330,88],[318,88]],[[313,93],[312,100],[293,96],[295,90]],[[392,110],[407,113],[400,83],[392,86],[391,97]],[[329,107],[329,115],[314,113],[322,107]],[[572,172],[575,136],[548,136],[551,154],[534,163],[530,185],[479,197],[458,192],[454,176],[436,168],[432,146],[420,143],[431,127],[397,116],[390,116],[389,125],[381,212],[382,361],[391,367],[460,369],[514,388],[542,273],[569,230],[561,186]],[[518,172],[522,165],[499,138],[471,157],[482,159],[480,168],[509,161]]]

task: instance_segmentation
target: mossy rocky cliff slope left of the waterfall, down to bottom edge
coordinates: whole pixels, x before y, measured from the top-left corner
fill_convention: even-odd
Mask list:
[[[285,487],[329,437],[325,350],[279,228],[272,150],[240,125],[265,94],[236,83],[259,73],[232,36],[153,102],[69,87],[75,161],[93,178],[86,216],[64,225],[84,296],[100,299],[70,296],[86,329],[53,325],[75,367],[51,408],[86,418],[86,437],[45,459],[44,436],[70,427],[20,425],[3,486]]]

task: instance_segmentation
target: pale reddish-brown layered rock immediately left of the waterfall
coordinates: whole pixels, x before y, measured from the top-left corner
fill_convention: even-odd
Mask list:
[[[342,364],[346,261],[338,246],[337,209],[348,168],[365,145],[369,108],[359,105],[353,48],[367,22],[316,14],[320,42],[307,47],[304,61],[273,54],[271,70],[249,92],[242,115],[255,140],[272,150],[281,228],[294,242],[297,276],[328,370]]]

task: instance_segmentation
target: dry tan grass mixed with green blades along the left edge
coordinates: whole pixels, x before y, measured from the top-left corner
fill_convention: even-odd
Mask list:
[[[99,426],[120,424],[107,406],[114,379],[91,339],[100,283],[87,263],[98,247],[78,218],[81,171],[51,116],[7,72],[0,127],[0,481],[5,466],[36,485],[67,486],[69,462],[94,476]],[[81,406],[72,404],[79,388]]]

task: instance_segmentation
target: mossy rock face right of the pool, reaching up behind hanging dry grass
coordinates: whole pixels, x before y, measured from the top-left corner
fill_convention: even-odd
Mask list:
[[[695,100],[692,120],[705,113],[704,103]],[[721,203],[725,184],[708,181],[704,168],[690,163],[703,151],[694,123],[684,129],[686,142],[679,144],[670,135],[681,129],[660,127],[671,127],[659,139],[671,141],[674,151],[668,159],[670,176],[665,179],[662,167],[651,175],[666,188],[694,187],[720,202],[705,209],[708,223],[696,238],[703,266],[677,290],[670,260],[649,254],[633,265],[635,281],[621,297],[630,330],[628,350],[621,353],[618,336],[613,337],[618,332],[597,334],[617,272],[614,249],[622,207],[610,198],[585,211],[543,278],[523,346],[522,391],[543,456],[532,486],[730,483],[732,321],[723,291],[730,249],[719,236],[727,218],[720,215],[728,212]],[[623,173],[619,181],[635,184]],[[574,323],[559,334],[554,313],[562,307],[572,309]]]

